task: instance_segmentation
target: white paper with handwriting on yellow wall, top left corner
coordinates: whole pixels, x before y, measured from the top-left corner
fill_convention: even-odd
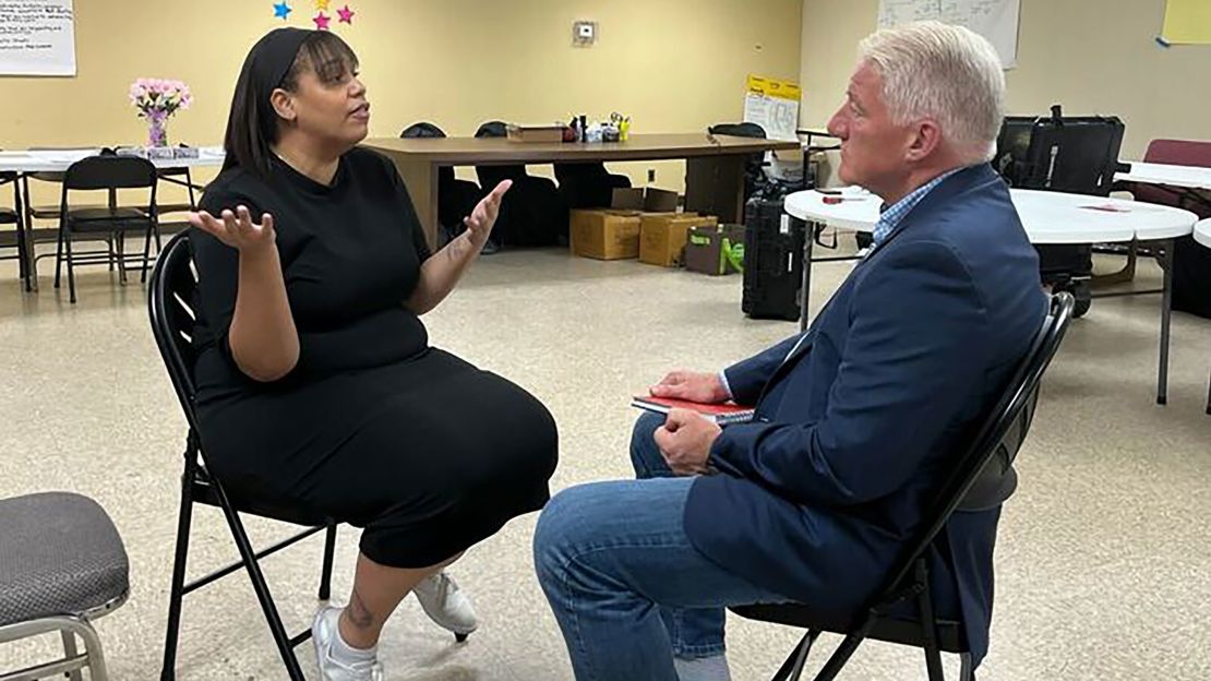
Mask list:
[[[75,75],[71,0],[0,0],[0,75]]]

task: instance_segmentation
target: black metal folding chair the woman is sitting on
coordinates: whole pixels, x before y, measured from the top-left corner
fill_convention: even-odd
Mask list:
[[[199,436],[197,416],[194,411],[196,399],[194,364],[197,357],[193,345],[194,320],[196,319],[193,305],[196,290],[197,275],[189,253],[189,233],[183,231],[172,238],[167,248],[156,259],[155,269],[151,273],[150,296],[148,297],[151,331],[155,334],[156,345],[160,348],[165,367],[168,370],[168,377],[172,379],[172,387],[177,391],[177,399],[185,412],[185,420],[189,423],[189,434],[185,436],[185,470],[180,479],[180,515],[177,523],[177,551],[173,559],[172,588],[168,599],[168,630],[165,637],[163,669],[160,673],[160,679],[167,681],[177,676],[177,635],[180,625],[180,606],[184,595],[231,574],[240,568],[245,568],[248,571],[252,588],[257,593],[260,610],[269,624],[269,630],[274,635],[274,642],[277,645],[277,651],[282,657],[289,679],[302,681],[303,671],[299,669],[298,658],[294,656],[294,647],[310,639],[311,630],[306,629],[293,637],[286,634],[258,561],[311,534],[321,531],[326,532],[318,599],[321,601],[327,600],[332,585],[332,556],[337,543],[337,523],[332,519],[308,514],[297,508],[281,508],[256,499],[229,497],[219,481],[210,474],[206,453],[202,451]],[[189,526],[195,503],[218,507],[223,510],[223,516],[231,530],[231,537],[240,550],[241,560],[185,584]],[[240,513],[293,525],[305,525],[309,528],[268,549],[254,551],[248,540],[248,534],[243,530],[243,523],[240,521]]]

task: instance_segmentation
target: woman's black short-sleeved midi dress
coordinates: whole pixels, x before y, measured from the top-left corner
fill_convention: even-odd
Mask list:
[[[546,503],[551,414],[430,348],[403,307],[430,253],[389,160],[354,149],[331,185],[280,160],[268,181],[224,171],[201,207],[237,205],[274,216],[300,353],[272,383],[236,367],[239,254],[193,230],[202,446],[233,494],[363,526],[362,553],[392,567],[435,565]]]

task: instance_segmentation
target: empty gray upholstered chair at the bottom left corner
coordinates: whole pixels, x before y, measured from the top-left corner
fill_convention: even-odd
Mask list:
[[[0,669],[0,681],[64,674],[79,681],[85,668],[93,681],[107,681],[90,622],[117,608],[128,593],[126,549],[96,502],[67,492],[0,499],[0,646],[58,631],[64,652],[54,662]]]

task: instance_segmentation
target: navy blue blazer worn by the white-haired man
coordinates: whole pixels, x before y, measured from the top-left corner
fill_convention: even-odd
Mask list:
[[[823,612],[863,605],[1046,309],[1038,257],[1001,179],[988,165],[946,178],[803,336],[725,370],[757,418],[712,446],[719,474],[694,483],[690,540]],[[976,663],[988,647],[999,515],[999,505],[957,513],[946,555],[930,556],[940,616],[962,618]]]

